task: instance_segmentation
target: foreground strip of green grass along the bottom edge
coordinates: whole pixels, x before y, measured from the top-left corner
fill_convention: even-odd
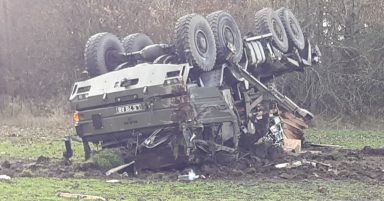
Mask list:
[[[384,186],[340,181],[150,182],[20,178],[0,182],[0,200],[64,200],[59,192],[109,200],[383,200]]]

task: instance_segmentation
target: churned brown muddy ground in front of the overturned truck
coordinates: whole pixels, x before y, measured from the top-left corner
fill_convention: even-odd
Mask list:
[[[0,157],[0,174],[11,177],[55,177],[55,178],[98,178],[98,179],[139,179],[177,180],[177,176],[193,169],[206,179],[247,180],[281,178],[286,180],[356,180],[381,183],[384,181],[384,149],[365,147],[362,150],[346,150],[324,147],[303,149],[301,154],[287,154],[275,148],[258,148],[242,153],[239,159],[230,160],[217,157],[202,165],[192,165],[182,169],[161,171],[142,170],[138,175],[131,173],[105,176],[92,163],[68,164],[41,156],[36,160],[22,160]],[[223,160],[223,158],[225,160]],[[302,165],[291,168],[276,168],[276,164],[300,161]],[[294,163],[296,162],[296,163]],[[127,170],[129,172],[129,170]]]

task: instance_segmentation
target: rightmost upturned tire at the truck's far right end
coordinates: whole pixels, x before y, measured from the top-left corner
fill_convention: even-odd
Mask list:
[[[280,8],[276,13],[283,23],[285,32],[287,33],[289,49],[296,47],[299,50],[303,50],[305,47],[305,38],[300,23],[295,15],[288,8]]]

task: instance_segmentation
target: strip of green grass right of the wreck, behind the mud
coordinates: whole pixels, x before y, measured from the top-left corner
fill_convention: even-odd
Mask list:
[[[384,148],[384,131],[308,129],[305,138],[312,143],[341,145],[347,149]]]

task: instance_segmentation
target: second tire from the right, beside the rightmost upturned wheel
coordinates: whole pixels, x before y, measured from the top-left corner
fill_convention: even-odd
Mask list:
[[[255,14],[255,32],[256,34],[272,33],[273,45],[280,51],[288,51],[288,37],[283,23],[272,8],[264,8]]]

